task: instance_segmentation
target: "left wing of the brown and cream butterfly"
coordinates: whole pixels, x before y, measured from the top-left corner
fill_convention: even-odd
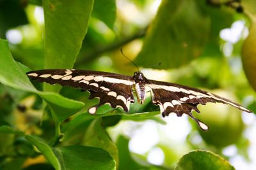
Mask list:
[[[88,110],[91,114],[96,113],[97,108],[106,103],[127,112],[130,103],[134,102],[132,76],[79,69],[44,69],[27,74],[32,80],[88,90],[90,99],[100,99],[99,104]]]

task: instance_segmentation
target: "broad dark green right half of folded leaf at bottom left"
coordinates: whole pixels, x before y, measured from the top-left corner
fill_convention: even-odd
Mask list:
[[[115,161],[100,148],[73,145],[54,148],[54,153],[61,162],[61,169],[115,169]]]

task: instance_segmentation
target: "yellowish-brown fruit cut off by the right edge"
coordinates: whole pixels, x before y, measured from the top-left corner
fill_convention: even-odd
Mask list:
[[[256,22],[250,27],[250,33],[242,46],[244,73],[250,85],[256,90]]]

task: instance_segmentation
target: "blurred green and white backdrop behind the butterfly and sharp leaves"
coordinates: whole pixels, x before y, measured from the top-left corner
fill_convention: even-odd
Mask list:
[[[125,59],[120,52],[122,48],[149,79],[209,90],[256,111],[255,85],[248,82],[252,73],[244,74],[245,62],[241,60],[241,49],[244,39],[252,33],[252,22],[237,7],[239,4],[244,11],[255,13],[252,8],[256,6],[255,1],[232,1],[232,5],[225,4],[226,1],[203,0],[161,2],[111,1],[105,9],[106,18],[93,11],[74,68],[132,75],[137,71],[136,66]],[[15,60],[31,70],[43,69],[42,2],[0,0],[0,38],[8,40]],[[243,48],[255,48],[254,43]],[[253,62],[253,59],[246,60]],[[42,89],[39,83],[36,86]],[[61,95],[89,103],[86,94],[79,90],[63,87]],[[1,124],[7,122],[26,134],[43,134],[45,138],[54,133],[45,132],[54,124],[47,117],[41,122],[44,110],[38,96],[0,84],[0,100]],[[147,104],[150,99],[144,105]],[[131,112],[140,112],[140,107],[133,104]],[[199,109],[200,115],[194,115],[209,125],[209,131],[201,131],[186,115],[175,114],[142,121],[116,118],[107,131],[115,143],[127,143],[132,164],[173,168],[185,153],[202,149],[221,155],[236,169],[256,169],[255,114],[224,104],[209,103]],[[66,123],[68,121],[63,123],[63,128]],[[77,134],[81,136],[82,132]],[[0,157],[4,157],[17,147],[17,139],[14,143],[12,135],[0,136]],[[71,142],[74,142],[72,138],[66,141]],[[36,161],[45,160],[29,160],[26,164]]]

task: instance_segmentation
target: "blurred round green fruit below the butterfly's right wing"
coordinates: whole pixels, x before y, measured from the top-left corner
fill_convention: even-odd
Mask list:
[[[228,99],[233,98],[227,92],[218,92],[218,94]],[[222,148],[236,143],[241,137],[244,124],[241,111],[237,108],[227,104],[207,103],[205,106],[200,106],[200,111],[200,115],[196,115],[196,118],[209,127],[208,131],[199,130],[206,143]]]

